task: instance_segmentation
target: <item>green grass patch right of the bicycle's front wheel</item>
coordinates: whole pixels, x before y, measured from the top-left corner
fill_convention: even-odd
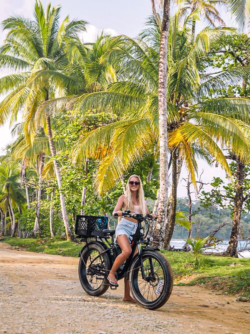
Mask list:
[[[176,285],[201,285],[225,294],[250,298],[250,260],[200,255],[199,265],[191,253],[162,251],[169,260]],[[235,265],[230,266],[230,264]]]

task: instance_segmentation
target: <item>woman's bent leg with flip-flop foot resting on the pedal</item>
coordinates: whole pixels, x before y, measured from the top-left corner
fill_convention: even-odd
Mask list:
[[[112,268],[108,274],[108,278],[114,280],[115,282],[116,282],[115,271],[121,266],[121,264],[125,262],[125,260],[131,253],[131,246],[125,234],[118,235],[116,240],[121,248],[122,253],[116,257],[116,259],[113,262]]]

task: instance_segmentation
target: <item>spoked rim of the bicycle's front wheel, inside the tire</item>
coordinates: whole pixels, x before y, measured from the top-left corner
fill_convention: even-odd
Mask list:
[[[143,255],[145,279],[142,278],[140,261],[136,261],[133,271],[133,286],[141,301],[152,303],[159,299],[165,287],[165,274],[159,260],[153,255]]]

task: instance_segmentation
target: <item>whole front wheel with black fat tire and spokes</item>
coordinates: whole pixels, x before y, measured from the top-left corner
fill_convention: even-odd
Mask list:
[[[144,250],[142,260],[144,279],[140,257],[136,256],[130,267],[130,289],[134,299],[141,306],[156,309],[164,305],[172,292],[172,269],[159,251]]]

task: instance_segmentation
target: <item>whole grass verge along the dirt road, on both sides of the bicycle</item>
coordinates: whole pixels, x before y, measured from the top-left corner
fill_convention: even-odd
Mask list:
[[[5,238],[0,241],[31,252],[77,257],[82,244],[64,237],[44,239]],[[176,285],[201,285],[221,293],[250,298],[250,260],[200,255],[199,265],[191,253],[163,251],[169,260]],[[235,263],[234,266],[229,264]]]

